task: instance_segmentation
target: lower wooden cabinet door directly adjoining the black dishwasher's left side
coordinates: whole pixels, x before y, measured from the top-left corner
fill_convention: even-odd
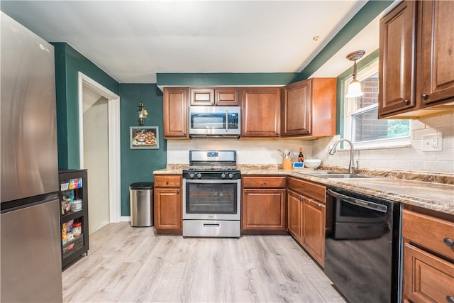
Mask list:
[[[304,197],[304,248],[325,265],[325,204]]]

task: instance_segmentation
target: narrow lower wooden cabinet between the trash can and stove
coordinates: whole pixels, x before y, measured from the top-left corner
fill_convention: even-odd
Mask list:
[[[155,230],[182,235],[182,176],[155,175]]]

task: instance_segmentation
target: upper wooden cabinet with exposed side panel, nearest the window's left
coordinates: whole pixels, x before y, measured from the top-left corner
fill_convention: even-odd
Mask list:
[[[312,78],[282,88],[282,137],[336,134],[336,78]]]

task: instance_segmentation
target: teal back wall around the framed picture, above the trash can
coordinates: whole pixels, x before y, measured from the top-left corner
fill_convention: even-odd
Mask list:
[[[153,170],[167,164],[167,141],[162,137],[162,92],[156,84],[120,84],[121,216],[129,216],[129,184],[153,182]],[[157,126],[159,149],[131,150],[129,127],[138,126],[138,105],[148,111],[143,126]]]

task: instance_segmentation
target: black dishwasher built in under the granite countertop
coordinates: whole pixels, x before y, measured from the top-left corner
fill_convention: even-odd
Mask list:
[[[325,273],[349,302],[400,302],[402,205],[337,187],[326,201]]]

